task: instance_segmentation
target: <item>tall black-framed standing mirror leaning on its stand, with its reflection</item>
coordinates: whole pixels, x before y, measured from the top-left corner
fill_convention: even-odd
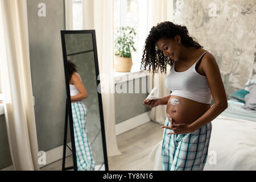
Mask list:
[[[61,31],[61,42],[67,88],[64,144],[68,120],[73,169],[108,171],[95,30]],[[65,147],[63,159],[65,169]]]

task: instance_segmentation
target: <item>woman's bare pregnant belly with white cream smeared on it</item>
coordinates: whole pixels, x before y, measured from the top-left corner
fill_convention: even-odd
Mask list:
[[[166,113],[171,116],[174,124],[191,124],[208,109],[210,109],[210,104],[204,104],[184,97],[171,96],[168,100]]]

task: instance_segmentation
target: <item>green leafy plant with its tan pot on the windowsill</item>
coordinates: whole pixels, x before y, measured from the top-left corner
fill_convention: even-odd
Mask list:
[[[114,35],[114,70],[116,72],[130,72],[133,61],[131,58],[131,49],[134,48],[134,37],[137,35],[132,27],[119,27],[115,29]]]

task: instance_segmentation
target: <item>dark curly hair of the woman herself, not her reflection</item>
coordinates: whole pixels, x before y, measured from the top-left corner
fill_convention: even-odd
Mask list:
[[[180,26],[169,21],[158,23],[157,26],[153,26],[151,28],[145,41],[141,71],[146,71],[146,67],[149,66],[148,71],[151,72],[152,67],[153,75],[154,73],[158,73],[159,67],[161,73],[166,73],[167,64],[172,66],[174,60],[170,59],[170,57],[164,57],[163,52],[156,47],[156,42],[158,42],[160,38],[174,40],[176,35],[180,35],[181,44],[185,47],[203,48],[203,46],[193,40],[195,38],[189,36],[187,27]],[[144,68],[143,70],[142,67]]]

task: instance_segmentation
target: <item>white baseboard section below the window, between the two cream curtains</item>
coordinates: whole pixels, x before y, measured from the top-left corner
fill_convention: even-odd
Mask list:
[[[151,120],[150,111],[137,115],[133,118],[127,119],[126,121],[123,121],[115,125],[115,135],[125,133],[126,131],[129,131],[131,129],[134,129],[135,127],[138,127],[140,125],[143,125],[144,123],[149,122]]]

